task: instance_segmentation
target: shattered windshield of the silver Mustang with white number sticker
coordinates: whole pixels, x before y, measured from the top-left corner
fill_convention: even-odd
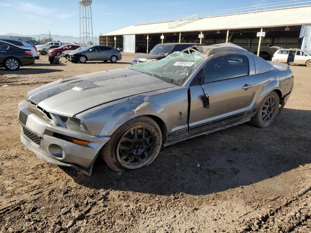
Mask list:
[[[200,52],[173,52],[159,61],[138,63],[126,68],[181,86],[205,57]]]

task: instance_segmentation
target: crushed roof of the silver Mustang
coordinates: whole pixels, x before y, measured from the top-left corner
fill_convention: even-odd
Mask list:
[[[208,45],[208,46],[194,45],[191,48],[199,50],[200,52],[207,54],[207,56],[211,55],[212,53],[215,53],[218,51],[225,51],[225,50],[249,52],[243,49],[242,47],[236,44],[233,44],[233,43],[222,43],[222,44],[215,44],[215,45]]]

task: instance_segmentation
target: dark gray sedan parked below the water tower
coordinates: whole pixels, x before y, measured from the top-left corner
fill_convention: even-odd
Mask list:
[[[86,63],[87,61],[111,61],[122,59],[120,50],[104,45],[86,46],[82,50],[70,52],[68,60],[71,62]]]

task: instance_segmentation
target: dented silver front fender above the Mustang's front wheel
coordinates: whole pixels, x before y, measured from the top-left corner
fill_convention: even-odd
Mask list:
[[[170,133],[188,126],[187,90],[187,87],[176,87],[114,100],[76,116],[92,135],[110,136],[125,122],[145,115],[166,122]]]

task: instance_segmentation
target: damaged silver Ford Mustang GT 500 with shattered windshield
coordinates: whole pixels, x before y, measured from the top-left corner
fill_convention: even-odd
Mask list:
[[[97,155],[115,171],[151,164],[162,146],[250,121],[269,127],[294,76],[231,43],[63,78],[18,105],[21,141],[42,160],[90,174]]]

